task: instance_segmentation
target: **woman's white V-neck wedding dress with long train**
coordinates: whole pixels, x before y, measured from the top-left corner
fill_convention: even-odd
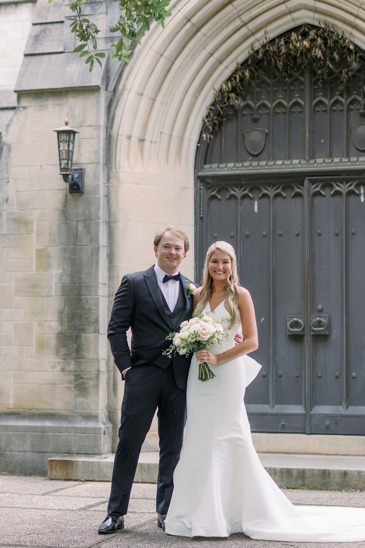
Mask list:
[[[228,328],[222,302],[208,313]],[[235,345],[240,326],[210,351]],[[244,395],[260,365],[249,356],[211,366],[215,379],[198,380],[199,363],[190,366],[188,430],[173,482],[166,533],[228,536],[245,533],[257,540],[350,542],[365,540],[365,509],[293,506],[260,464],[251,439]]]

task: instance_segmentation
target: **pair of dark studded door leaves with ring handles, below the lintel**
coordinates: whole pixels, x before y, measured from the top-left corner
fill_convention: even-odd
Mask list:
[[[361,180],[204,185],[205,248],[236,249],[263,365],[253,431],[364,433],[365,203]],[[361,319],[362,318],[362,319]]]

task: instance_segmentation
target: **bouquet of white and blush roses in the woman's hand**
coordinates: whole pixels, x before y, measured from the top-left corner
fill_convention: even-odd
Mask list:
[[[222,340],[228,337],[220,323],[214,323],[209,316],[199,314],[196,318],[182,322],[179,333],[167,335],[166,339],[172,340],[172,344],[163,351],[163,354],[169,357],[172,352],[189,355],[191,352],[206,350],[215,343],[222,344]],[[215,376],[207,363],[199,363],[199,380],[204,382]]]

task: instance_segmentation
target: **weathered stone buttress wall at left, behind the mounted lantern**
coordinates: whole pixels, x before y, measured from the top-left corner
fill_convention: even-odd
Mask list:
[[[112,439],[105,90],[95,71],[92,89],[74,82],[61,93],[30,92],[29,64],[37,87],[48,89],[67,55],[75,73],[82,66],[77,55],[62,57],[67,6],[41,3],[18,76],[18,109],[0,145],[0,471],[27,475],[47,474],[48,458],[60,452],[109,453]],[[60,53],[53,66],[49,49]],[[69,195],[59,175],[53,129],[66,117],[80,132],[74,165],[86,167],[83,196]]]

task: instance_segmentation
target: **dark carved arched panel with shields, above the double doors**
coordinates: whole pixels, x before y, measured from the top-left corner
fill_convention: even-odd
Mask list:
[[[320,85],[315,70],[289,84],[274,68],[248,85],[241,108],[227,117],[206,151],[206,164],[363,156],[364,64],[339,92],[339,69]]]

